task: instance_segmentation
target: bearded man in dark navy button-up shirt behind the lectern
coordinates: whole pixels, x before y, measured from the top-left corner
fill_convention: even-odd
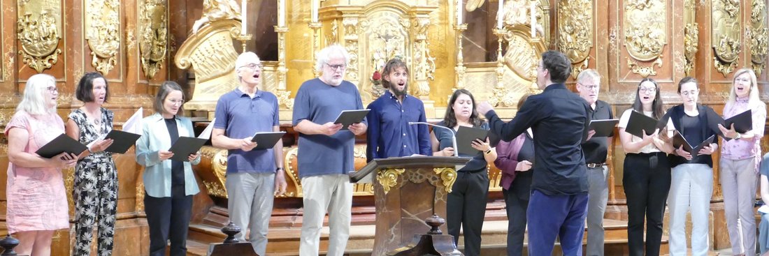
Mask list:
[[[366,119],[366,162],[391,156],[432,156],[430,131],[425,122],[424,103],[408,95],[408,67],[394,58],[384,66],[382,87],[388,89],[368,104]]]

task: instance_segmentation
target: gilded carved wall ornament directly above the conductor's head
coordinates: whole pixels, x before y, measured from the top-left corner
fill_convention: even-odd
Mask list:
[[[571,60],[571,77],[588,68],[593,47],[593,2],[561,0],[558,4],[558,48]]]

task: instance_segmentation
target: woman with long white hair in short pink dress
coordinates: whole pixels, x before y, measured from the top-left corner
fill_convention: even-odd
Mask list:
[[[69,228],[62,169],[75,166],[77,156],[61,153],[50,159],[35,153],[64,133],[56,113],[58,88],[54,77],[29,77],[22,102],[5,126],[8,138],[8,233],[18,238],[20,255],[50,255],[53,232]]]

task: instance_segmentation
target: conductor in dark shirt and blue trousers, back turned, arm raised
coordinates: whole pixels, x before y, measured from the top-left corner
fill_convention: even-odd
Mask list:
[[[581,145],[588,138],[591,107],[563,84],[570,74],[566,55],[546,51],[537,67],[543,91],[528,97],[513,120],[504,123],[491,104],[478,104],[478,113],[504,141],[529,127],[534,131],[534,177],[526,212],[529,255],[552,254],[556,235],[564,255],[582,255],[588,176]]]

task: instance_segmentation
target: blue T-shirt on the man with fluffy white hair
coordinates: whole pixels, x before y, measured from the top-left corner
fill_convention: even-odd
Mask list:
[[[346,80],[331,86],[315,78],[301,84],[294,99],[293,125],[302,120],[324,124],[333,122],[342,110],[362,110],[358,87]],[[366,119],[363,123],[366,123]],[[299,133],[299,177],[347,174],[355,170],[355,135],[339,130],[332,136]]]

